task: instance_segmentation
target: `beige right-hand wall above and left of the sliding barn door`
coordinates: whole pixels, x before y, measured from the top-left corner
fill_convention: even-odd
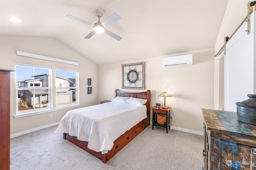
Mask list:
[[[236,28],[247,16],[248,0],[229,0],[224,18],[214,46],[214,54],[217,54],[224,45],[224,37],[230,37]],[[223,64],[222,64],[223,67]],[[224,106],[224,86],[220,82],[224,78],[224,69],[220,68],[220,61],[214,57],[214,109],[222,109]]]

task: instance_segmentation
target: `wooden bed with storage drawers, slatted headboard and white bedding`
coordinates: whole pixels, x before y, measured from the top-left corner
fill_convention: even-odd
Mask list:
[[[134,99],[134,98],[143,99],[146,102],[146,104],[144,104],[143,106],[140,106],[140,107],[136,106],[132,110],[129,110],[129,108],[128,108],[128,107],[134,107],[134,106],[131,106],[132,104],[116,105],[117,108],[112,109],[112,110],[118,110],[118,108],[120,110],[120,107],[121,107],[122,108],[121,110],[125,110],[125,111],[122,111],[122,113],[120,113],[120,114],[118,113],[118,115],[115,115],[115,117],[111,116],[111,117],[106,117],[106,118],[104,118],[104,111],[108,111],[109,107],[113,107],[113,108],[116,107],[116,106],[114,106],[115,102],[109,102],[109,103],[100,104],[100,105],[96,105],[96,106],[75,109],[74,111],[76,113],[73,113],[73,114],[79,114],[80,112],[87,111],[87,112],[90,112],[90,114],[93,116],[92,119],[94,119],[95,117],[98,116],[98,117],[101,117],[99,121],[108,122],[111,125],[111,127],[110,127],[109,124],[105,125],[103,123],[103,125],[100,124],[99,126],[95,126],[95,125],[97,125],[96,122],[98,120],[96,120],[96,121],[94,120],[94,123],[92,123],[92,125],[94,125],[94,127],[92,127],[93,130],[92,131],[85,130],[86,132],[90,133],[90,135],[89,135],[90,140],[87,139],[88,137],[86,136],[86,134],[76,133],[75,131],[70,130],[70,127],[66,127],[66,129],[69,128],[69,130],[65,130],[65,128],[62,129],[63,125],[69,124],[70,122],[72,122],[72,123],[77,122],[76,124],[72,125],[72,128],[74,127],[74,129],[82,129],[84,127],[84,125],[82,125],[80,123],[81,117],[77,118],[77,119],[72,118],[72,120],[69,120],[70,118],[67,118],[67,116],[69,115],[70,111],[68,111],[66,113],[66,115],[62,118],[62,121],[60,122],[60,125],[59,125],[60,128],[58,127],[58,129],[61,129],[61,130],[57,129],[56,133],[63,132],[63,139],[66,139],[66,140],[70,141],[71,143],[73,143],[74,145],[77,145],[78,147],[86,150],[90,154],[92,154],[92,155],[96,156],[97,158],[99,158],[100,160],[102,160],[102,162],[104,162],[104,163],[108,162],[108,160],[110,160],[116,153],[118,153],[130,141],[132,141],[132,139],[134,139],[138,134],[140,134],[144,129],[146,129],[146,127],[148,127],[148,125],[150,125],[150,90],[147,90],[146,92],[131,93],[131,92],[122,92],[122,91],[115,89],[114,96],[115,96],[115,98],[116,97],[117,98],[132,97],[131,99]],[[120,96],[120,97],[118,97],[118,96]],[[126,106],[126,105],[130,105],[130,106]],[[127,111],[126,111],[126,107],[128,109]],[[96,113],[96,110],[98,110],[97,113]],[[102,111],[102,110],[104,110],[104,111]],[[139,111],[144,110],[144,112],[146,112],[143,115],[143,119],[141,118],[141,116],[139,114],[138,114],[138,116],[135,116],[135,115],[137,115],[137,110],[139,110]],[[116,113],[113,113],[113,114],[116,114]],[[79,115],[76,115],[76,116],[79,116]],[[140,117],[140,118],[137,118],[137,117]],[[66,122],[69,121],[69,123],[64,123],[63,119],[65,119]],[[86,118],[86,119],[88,119],[88,118]],[[126,120],[129,120],[129,121],[126,121]],[[87,120],[84,120],[84,121],[87,122]],[[134,123],[134,122],[136,122],[136,123]],[[112,125],[115,127],[112,127]],[[100,136],[100,138],[102,138],[102,140],[99,139],[97,135],[94,135],[94,131],[95,131],[95,133],[98,134],[97,131],[101,127],[107,127],[107,128],[103,128],[103,129],[104,129],[104,131],[109,131],[109,132],[104,132],[104,133],[102,133],[100,131],[101,134],[99,134],[98,136]],[[118,127],[118,128],[116,128],[116,127]],[[120,127],[124,128],[124,129],[122,129]],[[107,129],[107,130],[105,130],[105,129]],[[120,131],[116,131],[116,129],[120,129]],[[83,132],[83,133],[85,133],[85,132]],[[112,133],[111,137],[109,137],[108,133]],[[113,139],[113,140],[111,141],[109,138]],[[94,139],[94,141],[93,141],[93,139]],[[106,141],[108,141],[107,139],[110,142],[106,142]],[[99,147],[94,147],[94,143],[101,143],[101,144],[103,143],[102,144],[103,147],[101,145]]]

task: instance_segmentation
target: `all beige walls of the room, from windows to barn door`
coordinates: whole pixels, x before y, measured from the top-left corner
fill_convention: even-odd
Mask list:
[[[224,73],[223,69],[220,68],[220,62],[213,56],[224,44],[224,36],[232,35],[246,17],[247,3],[248,0],[228,1],[214,49],[188,52],[193,53],[194,64],[192,66],[164,68],[162,66],[163,57],[153,57],[145,60],[107,64],[97,67],[96,64],[84,59],[84,57],[51,38],[1,36],[0,68],[15,70],[15,62],[19,62],[79,70],[80,104],[81,107],[84,107],[98,104],[100,100],[112,100],[114,98],[114,89],[122,90],[121,65],[144,61],[145,88],[151,90],[151,105],[154,106],[156,102],[163,103],[163,98],[157,95],[167,91],[174,96],[166,99],[166,104],[173,107],[173,126],[202,131],[203,118],[201,109],[220,109],[223,105],[223,94],[220,93],[223,93],[224,87],[221,85],[220,80],[222,80]],[[78,62],[80,65],[74,66],[17,56],[16,51],[70,60]],[[92,78],[92,94],[90,95],[87,94],[87,78]],[[70,110],[65,109],[52,112],[53,118],[51,119],[49,118],[50,113],[14,119],[12,116],[16,114],[16,100],[14,96],[15,73],[12,73],[11,134],[58,122],[66,111]]]

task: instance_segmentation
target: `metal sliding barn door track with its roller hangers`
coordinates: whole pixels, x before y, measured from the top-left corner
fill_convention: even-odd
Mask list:
[[[226,53],[226,50],[225,50],[226,43],[228,43],[228,40],[230,40],[233,37],[233,35],[243,25],[244,22],[247,22],[247,29],[245,30],[247,32],[247,35],[251,33],[251,30],[250,30],[250,27],[251,27],[251,17],[250,17],[250,14],[252,14],[252,12],[254,12],[255,10],[256,10],[256,1],[252,1],[252,2],[249,1],[248,4],[247,4],[247,16],[246,16],[246,18],[236,28],[236,30],[234,31],[234,33],[230,37],[224,37],[224,45],[221,47],[221,49],[218,51],[218,53],[216,55],[214,55],[214,57],[217,57],[223,51],[224,51],[224,55],[225,55],[225,53]]]

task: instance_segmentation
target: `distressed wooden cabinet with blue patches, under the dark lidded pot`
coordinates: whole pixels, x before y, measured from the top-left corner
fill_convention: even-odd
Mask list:
[[[236,112],[202,109],[205,170],[256,170],[256,126]]]

